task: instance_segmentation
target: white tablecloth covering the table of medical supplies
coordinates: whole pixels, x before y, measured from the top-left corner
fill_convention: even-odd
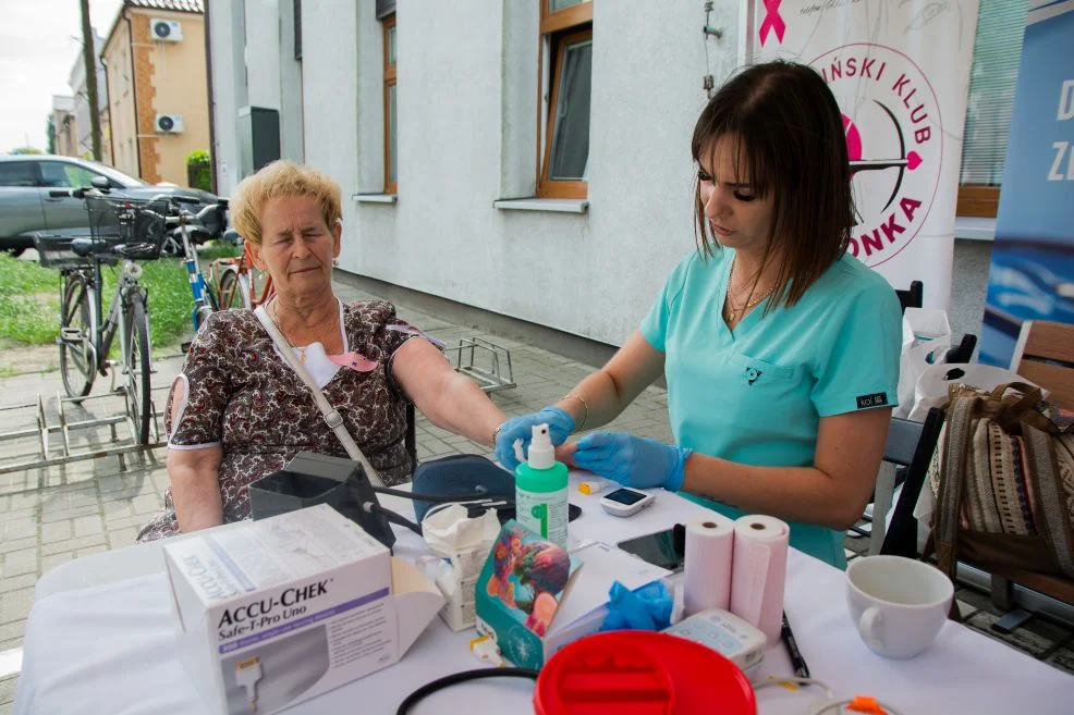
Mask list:
[[[572,493],[576,494],[573,489]],[[649,509],[617,519],[600,510],[597,497],[572,498],[583,507],[572,532],[610,543],[658,531],[704,511],[692,502],[659,492]],[[424,551],[416,535],[399,534],[398,555],[416,556]],[[136,576],[139,569],[148,572]],[[73,562],[66,570],[62,579],[58,574],[52,592],[41,594],[30,612],[16,715],[205,712],[197,683],[175,656],[175,624],[159,544],[96,554]],[[112,571],[133,578],[74,590],[54,585],[60,580],[68,585],[108,580]],[[785,608],[813,677],[826,681],[837,695],[874,695],[905,715],[1074,712],[1074,677],[954,622],[945,624],[936,644],[917,658],[888,661],[874,655],[847,615],[843,572],[793,550]],[[466,631],[452,633],[437,619],[395,666],[286,712],[390,715],[423,683],[477,667],[467,650],[471,637]],[[766,654],[758,676],[790,674],[790,659],[779,646]],[[478,681],[434,694],[414,712],[526,713],[532,712],[532,693],[530,681]],[[817,694],[766,688],[758,691],[759,710],[764,715],[806,713]]]

